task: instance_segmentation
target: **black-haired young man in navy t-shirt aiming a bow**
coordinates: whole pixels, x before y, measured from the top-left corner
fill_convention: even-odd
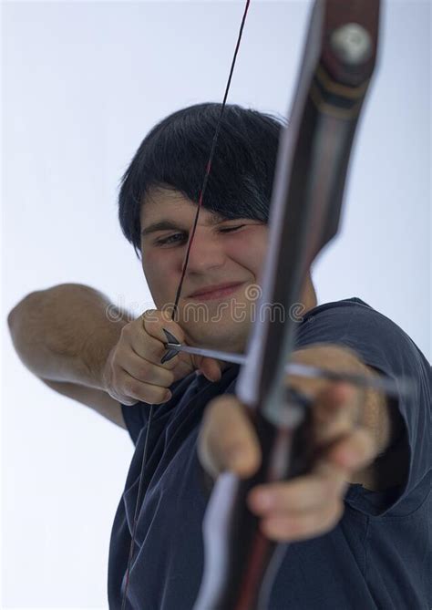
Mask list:
[[[119,220],[157,310],[132,321],[118,311],[113,320],[104,295],[62,284],[27,296],[9,316],[26,366],[129,429],[136,445],[111,537],[111,608],[121,607],[146,438],[129,608],[192,607],[203,568],[201,470],[213,480],[221,470],[250,476],[261,459],[231,396],[238,367],[185,354],[161,364],[164,329],[190,345],[243,352],[253,323],[281,125],[235,106],[222,121],[176,322],[164,313],[180,281],[219,112],[203,104],[163,120],[124,177]],[[372,390],[291,379],[314,398],[321,451],[308,475],[255,488],[248,498],[262,531],[293,543],[270,608],[428,607],[430,367],[400,328],[360,299],[317,305],[309,275],[302,303],[297,361],[410,377],[415,389],[390,401]]]

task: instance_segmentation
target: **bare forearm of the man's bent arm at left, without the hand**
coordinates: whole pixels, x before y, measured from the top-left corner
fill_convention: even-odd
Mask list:
[[[103,389],[103,367],[128,316],[89,286],[59,284],[27,295],[8,324],[18,356],[37,377]]]

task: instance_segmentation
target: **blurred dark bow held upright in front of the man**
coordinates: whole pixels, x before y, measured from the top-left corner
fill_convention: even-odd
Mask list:
[[[195,610],[267,606],[283,547],[275,553],[246,496],[258,483],[309,470],[314,459],[307,411],[285,398],[284,367],[297,326],[289,312],[310,265],[338,230],[355,128],[375,67],[378,20],[379,0],[314,5],[280,145],[259,322],[236,388],[257,429],[262,465],[248,481],[224,474],[216,482],[204,521],[204,575]]]

